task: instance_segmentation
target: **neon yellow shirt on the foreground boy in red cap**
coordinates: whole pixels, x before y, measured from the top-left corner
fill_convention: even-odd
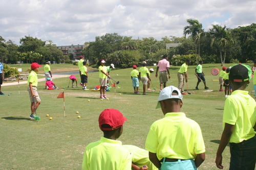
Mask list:
[[[132,157],[122,142],[101,137],[87,145],[82,168],[85,170],[131,170]]]

